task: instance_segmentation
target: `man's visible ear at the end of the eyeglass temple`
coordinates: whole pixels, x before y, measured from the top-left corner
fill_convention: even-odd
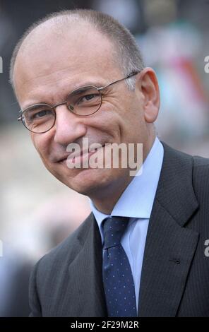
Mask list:
[[[142,105],[145,121],[153,123],[157,119],[160,107],[160,92],[155,71],[150,67],[143,69],[138,76],[136,85],[140,88],[143,96]]]

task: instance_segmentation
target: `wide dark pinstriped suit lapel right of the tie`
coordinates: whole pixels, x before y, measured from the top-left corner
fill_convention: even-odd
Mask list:
[[[150,216],[138,316],[176,316],[198,233],[183,227],[197,210],[193,159],[164,144],[165,156]]]

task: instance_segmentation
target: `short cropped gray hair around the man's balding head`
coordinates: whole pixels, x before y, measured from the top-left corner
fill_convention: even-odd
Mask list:
[[[134,39],[131,32],[121,25],[118,20],[115,20],[112,16],[107,15],[106,13],[101,13],[98,11],[92,11],[89,9],[74,9],[67,11],[59,11],[56,13],[51,13],[44,18],[37,20],[33,23],[28,30],[25,31],[23,36],[18,41],[13,55],[11,57],[11,66],[10,66],[10,82],[14,88],[13,84],[13,71],[16,63],[16,57],[20,50],[21,45],[30,32],[37,28],[42,23],[47,20],[54,20],[56,24],[59,24],[61,20],[70,20],[71,18],[83,19],[84,21],[90,23],[94,28],[96,28],[103,35],[106,35],[110,41],[112,41],[117,52],[117,58],[119,61],[119,66],[124,72],[124,75],[127,76],[133,71],[141,71],[144,68],[143,59],[141,52],[138,49],[136,40]],[[128,88],[134,90],[136,78],[129,78],[126,80]]]

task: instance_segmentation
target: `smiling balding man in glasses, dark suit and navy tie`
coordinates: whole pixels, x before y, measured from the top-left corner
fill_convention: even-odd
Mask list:
[[[92,206],[35,266],[31,316],[209,316],[209,161],[156,138],[157,78],[130,32],[95,11],[55,13],[18,43],[11,81],[44,165]],[[68,167],[92,158],[83,139],[102,165],[106,145],[141,143],[143,172]]]

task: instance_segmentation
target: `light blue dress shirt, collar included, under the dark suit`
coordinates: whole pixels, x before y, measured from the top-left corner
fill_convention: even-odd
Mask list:
[[[92,201],[90,201],[92,213],[95,215],[95,219],[97,220],[100,229],[102,244],[104,243],[102,221],[105,218],[108,218],[109,216],[130,218],[129,225],[121,239],[121,245],[126,251],[131,266],[137,308],[145,240],[162,168],[163,155],[164,149],[162,143],[160,143],[159,139],[156,137],[150,153],[145,159],[145,162],[143,162],[142,174],[134,177],[129,186],[126,187],[114,206],[111,215],[101,213],[95,208]],[[141,171],[139,170],[139,172]]]

